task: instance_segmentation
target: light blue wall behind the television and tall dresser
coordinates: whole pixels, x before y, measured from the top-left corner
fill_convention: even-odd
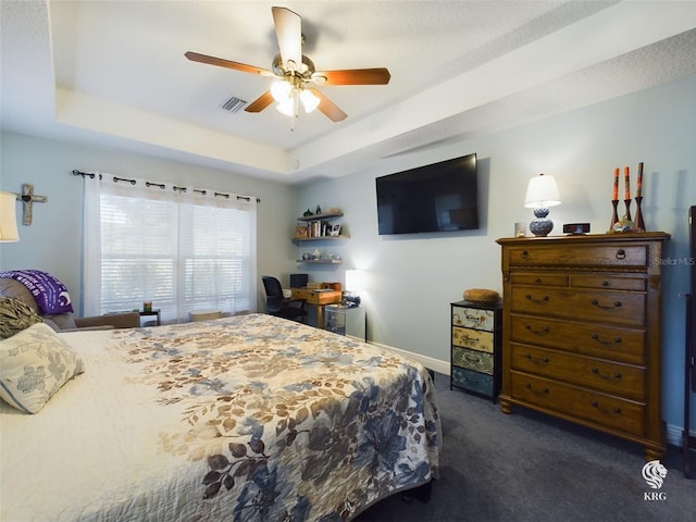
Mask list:
[[[375,177],[471,152],[478,156],[480,231],[377,235]],[[461,299],[465,288],[501,291],[500,248],[495,240],[511,236],[514,222],[533,217],[522,207],[527,179],[542,172],[557,178],[563,203],[551,209],[557,224],[552,234],[560,235],[562,223],[572,222],[591,222],[592,232],[602,233],[611,219],[613,169],[631,166],[635,189],[639,161],[645,163],[646,226],[672,235],[663,256],[666,262],[679,263],[663,266],[662,382],[664,418],[681,426],[681,295],[689,289],[687,209],[696,204],[694,77],[303,187],[299,208],[340,207],[351,236],[341,246],[321,246],[339,252],[343,265],[309,273],[315,281],[344,282],[346,269],[368,271],[369,288],[362,297],[369,338],[448,362],[449,303]]]

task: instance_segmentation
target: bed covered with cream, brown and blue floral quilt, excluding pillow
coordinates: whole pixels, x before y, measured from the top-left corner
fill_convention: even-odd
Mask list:
[[[4,522],[351,520],[437,477],[431,376],[389,350],[265,314],[54,336],[84,372],[0,405]]]

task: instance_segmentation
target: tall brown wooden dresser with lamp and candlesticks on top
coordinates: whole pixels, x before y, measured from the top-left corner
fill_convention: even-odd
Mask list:
[[[502,238],[500,408],[524,406],[666,451],[664,233]]]

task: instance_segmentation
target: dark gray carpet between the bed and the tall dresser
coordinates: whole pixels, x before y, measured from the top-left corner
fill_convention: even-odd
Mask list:
[[[648,501],[642,447],[523,408],[506,415],[498,403],[450,390],[447,375],[435,385],[443,452],[430,502],[395,495],[356,521],[696,520],[696,480],[684,477],[676,447],[662,460],[663,500]]]

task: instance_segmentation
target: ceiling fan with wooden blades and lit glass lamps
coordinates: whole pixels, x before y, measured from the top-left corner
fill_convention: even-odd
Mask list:
[[[273,101],[284,114],[297,117],[300,103],[307,112],[319,109],[333,122],[348,115],[313,85],[386,85],[391,75],[386,67],[316,71],[314,63],[302,54],[302,18],[287,8],[271,8],[279,54],[273,59],[271,70],[233,62],[188,51],[185,57],[194,62],[234,69],[243,73],[274,77],[271,89],[252,101],[245,111],[261,112]]]

